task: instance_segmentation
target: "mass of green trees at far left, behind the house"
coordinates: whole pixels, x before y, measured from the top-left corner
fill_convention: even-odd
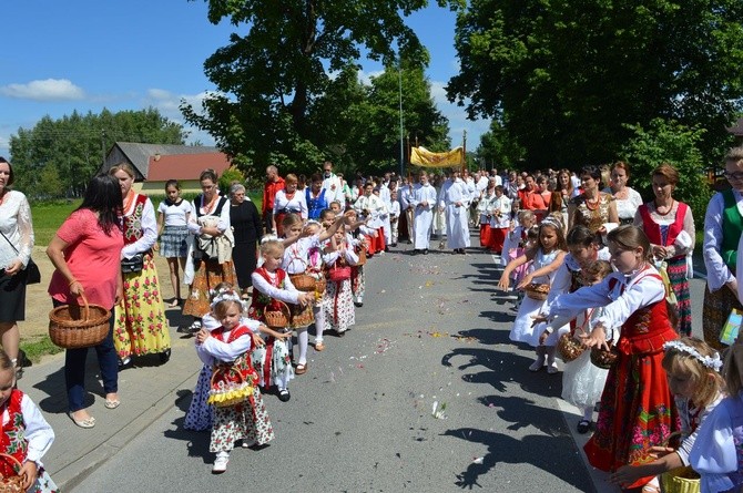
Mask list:
[[[41,195],[78,196],[114,142],[183,144],[185,136],[182,125],[152,107],[118,113],[104,109],[84,116],[74,111],[59,120],[44,116],[31,130],[19,129],[10,137],[10,154],[19,189],[41,194],[42,170],[53,168],[60,188]]]

